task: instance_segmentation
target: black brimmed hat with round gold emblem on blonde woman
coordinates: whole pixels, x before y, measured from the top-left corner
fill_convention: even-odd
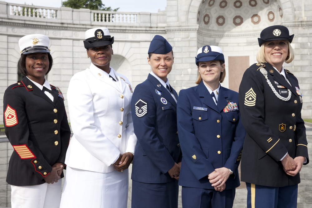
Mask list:
[[[289,35],[289,30],[287,27],[282,25],[273,25],[263,29],[260,33],[260,38],[258,38],[259,46],[267,41],[275,40],[286,40],[291,43],[294,38],[293,35]]]

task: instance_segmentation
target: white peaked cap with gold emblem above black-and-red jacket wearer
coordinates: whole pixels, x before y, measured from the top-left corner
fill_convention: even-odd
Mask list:
[[[21,37],[18,41],[21,54],[50,53],[50,39],[42,34],[31,34]]]

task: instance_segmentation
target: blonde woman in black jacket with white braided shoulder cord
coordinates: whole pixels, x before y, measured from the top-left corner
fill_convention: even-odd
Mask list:
[[[294,35],[275,25],[258,38],[259,63],[244,73],[239,88],[246,138],[241,180],[248,208],[297,207],[299,172],[309,163],[302,93],[296,77],[283,68],[294,59]]]

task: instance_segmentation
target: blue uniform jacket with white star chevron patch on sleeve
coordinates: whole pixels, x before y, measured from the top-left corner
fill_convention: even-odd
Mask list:
[[[173,93],[176,94],[174,90]],[[161,101],[163,98],[167,100],[167,104]],[[136,107],[141,101],[147,104],[147,109],[143,102],[144,106],[141,109]],[[138,111],[142,109],[147,110],[146,114],[138,117]],[[175,162],[181,162],[177,104],[173,97],[149,74],[147,80],[135,87],[131,111],[134,133],[138,138],[131,179],[143,183],[167,183],[175,180],[168,174]]]

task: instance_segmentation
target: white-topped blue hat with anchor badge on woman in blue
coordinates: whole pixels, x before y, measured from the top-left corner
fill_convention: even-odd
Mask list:
[[[195,63],[198,66],[200,61],[212,61],[220,60],[224,61],[224,55],[222,49],[218,46],[202,46],[197,51],[197,57],[195,57]]]

